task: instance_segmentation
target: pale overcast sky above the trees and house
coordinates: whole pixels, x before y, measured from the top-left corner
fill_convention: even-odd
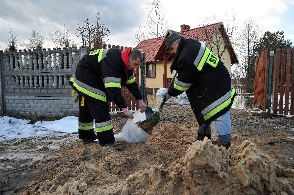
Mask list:
[[[0,50],[9,26],[17,35],[19,45],[25,43],[32,30],[47,37],[53,28],[69,29],[70,37],[78,42],[75,33],[81,18],[94,23],[100,13],[101,22],[110,28],[107,44],[129,46],[136,30],[145,24],[147,0],[0,0]],[[294,43],[294,0],[162,0],[170,29],[180,31],[181,24],[198,27],[204,18],[215,15],[219,21],[236,12],[237,25],[249,17],[264,31],[285,32],[285,39]],[[44,45],[52,48],[52,45]]]

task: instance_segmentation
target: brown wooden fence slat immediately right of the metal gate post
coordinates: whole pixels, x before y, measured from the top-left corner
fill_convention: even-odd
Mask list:
[[[272,98],[272,110],[273,114],[278,113],[278,96],[279,96],[279,75],[280,75],[280,49],[276,49],[274,55],[274,67],[273,67],[273,98]]]

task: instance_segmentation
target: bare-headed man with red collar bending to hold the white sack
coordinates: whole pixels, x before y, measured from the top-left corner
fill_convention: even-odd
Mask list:
[[[79,94],[78,135],[85,144],[98,138],[102,146],[115,149],[122,146],[115,142],[108,101],[113,101],[132,119],[133,113],[127,110],[121,93],[121,87],[125,86],[138,100],[141,112],[145,111],[146,105],[133,74],[133,68],[138,68],[142,61],[142,53],[130,47],[123,51],[97,49],[79,61],[69,84]]]

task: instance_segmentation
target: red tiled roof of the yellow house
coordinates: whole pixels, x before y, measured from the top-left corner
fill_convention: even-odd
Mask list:
[[[222,22],[185,30],[178,33],[180,33],[184,38],[195,39],[207,43],[208,40],[214,36],[215,32],[218,29],[220,29],[224,39],[226,39],[226,41],[230,43]],[[163,43],[163,40],[172,32],[175,31],[168,30],[166,36],[142,41],[136,46],[136,48],[146,53],[147,62],[163,61],[163,55],[165,53],[165,44]],[[232,64],[238,63],[238,59],[231,44],[228,45],[228,51],[231,55]]]

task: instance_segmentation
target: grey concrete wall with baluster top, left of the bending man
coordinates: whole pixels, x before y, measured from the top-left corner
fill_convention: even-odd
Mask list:
[[[54,51],[0,51],[1,114],[77,115],[78,103],[73,102],[77,94],[71,95],[72,87],[68,80],[80,56],[88,52],[88,47]],[[55,59],[53,55],[56,55]],[[66,55],[67,58],[64,57]]]

